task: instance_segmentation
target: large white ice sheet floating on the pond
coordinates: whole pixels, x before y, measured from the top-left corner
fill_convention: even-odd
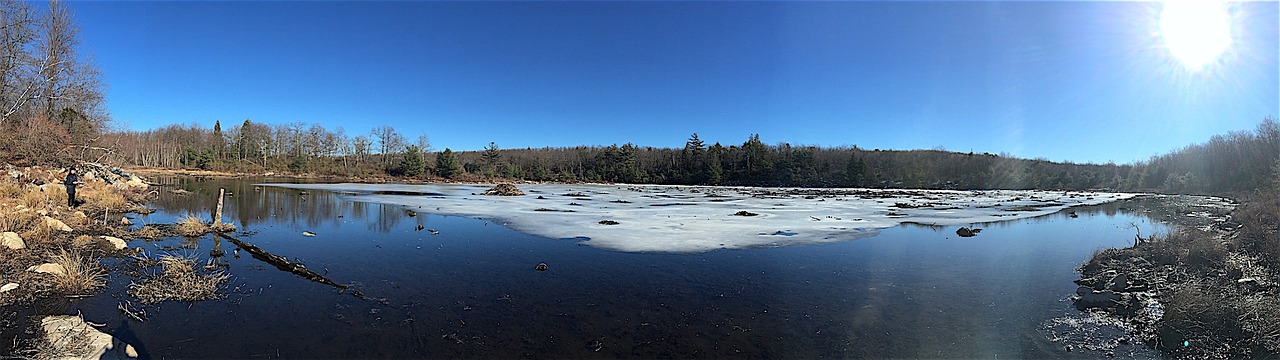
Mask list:
[[[755,188],[628,184],[521,184],[524,196],[484,196],[489,184],[330,183],[264,186],[324,190],[362,202],[492,219],[516,231],[582,238],[617,251],[700,252],[716,249],[827,243],[874,236],[911,222],[969,225],[1052,214],[1137,193],[1074,191],[941,191]],[[746,211],[755,215],[735,215]],[[616,222],[617,224],[609,224]]]

